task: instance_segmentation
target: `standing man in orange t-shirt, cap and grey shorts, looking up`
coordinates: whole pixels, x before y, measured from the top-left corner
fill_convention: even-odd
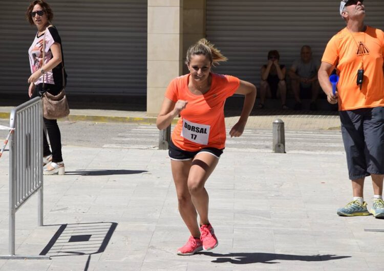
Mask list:
[[[384,33],[364,24],[362,1],[343,0],[340,15],[347,27],[327,44],[318,80],[328,102],[338,103],[343,142],[347,155],[353,200],[337,210],[340,216],[384,217]],[[329,75],[339,76],[333,93]],[[371,175],[373,203],[364,201],[364,179]]]

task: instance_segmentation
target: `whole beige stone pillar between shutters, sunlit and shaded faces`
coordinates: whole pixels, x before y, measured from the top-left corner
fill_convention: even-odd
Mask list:
[[[159,113],[168,83],[186,73],[185,52],[205,36],[206,0],[148,0],[147,115]]]

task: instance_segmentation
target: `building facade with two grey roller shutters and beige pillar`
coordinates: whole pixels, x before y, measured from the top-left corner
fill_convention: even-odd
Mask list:
[[[187,72],[185,52],[206,37],[228,57],[215,67],[260,82],[269,50],[289,69],[300,48],[321,58],[327,41],[345,27],[339,1],[307,0],[78,0],[48,1],[62,38],[67,92],[76,95],[146,96],[156,115],[169,81]],[[27,4],[8,2],[0,17],[0,95],[23,94],[30,75],[27,50],[36,33]],[[366,3],[366,23],[384,29],[384,2]]]

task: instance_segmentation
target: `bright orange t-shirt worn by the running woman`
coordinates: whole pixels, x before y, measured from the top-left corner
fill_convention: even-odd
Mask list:
[[[225,147],[224,103],[240,85],[237,77],[211,73],[210,89],[204,95],[194,95],[189,91],[189,74],[172,80],[165,97],[177,102],[188,101],[180,112],[180,119],[172,133],[176,147],[197,151],[204,147],[223,149]]]

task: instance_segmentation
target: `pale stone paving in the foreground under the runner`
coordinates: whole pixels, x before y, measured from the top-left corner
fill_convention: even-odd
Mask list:
[[[0,159],[1,255],[8,155]],[[167,151],[65,146],[63,156],[67,174],[44,178],[45,226],[37,227],[36,195],[16,213],[16,254],[52,259],[0,260],[1,271],[382,269],[384,233],[364,229],[384,221],[336,215],[351,195],[342,154],[226,150],[206,185],[219,246],[194,256],[176,255],[188,231]],[[365,190],[371,205],[370,182]]]

